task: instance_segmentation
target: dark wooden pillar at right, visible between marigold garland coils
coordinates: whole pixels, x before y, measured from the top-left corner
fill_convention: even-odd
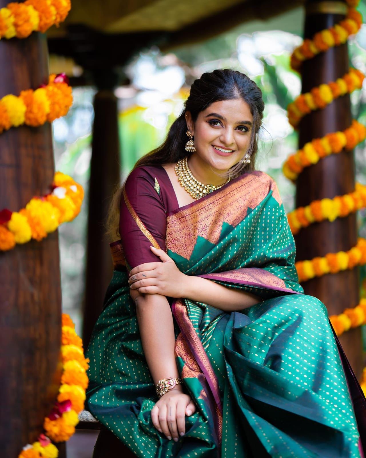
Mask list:
[[[330,3],[330,2],[329,2]],[[328,3],[328,5],[329,5]],[[332,2],[342,6],[343,2]],[[304,38],[333,26],[344,18],[344,14],[319,12],[319,5],[326,2],[307,0]],[[344,3],[344,10],[346,4]],[[302,93],[322,83],[335,81],[343,76],[348,67],[347,43],[330,48],[315,58],[307,60],[301,67]],[[341,96],[327,105],[307,114],[299,126],[299,147],[313,138],[330,132],[343,131],[351,125],[349,94]],[[352,152],[344,150],[320,159],[318,164],[305,168],[297,179],[296,207],[306,206],[313,200],[333,198],[355,190],[355,162]],[[314,223],[301,229],[295,236],[296,260],[312,259],[327,253],[347,251],[357,242],[356,214]],[[318,297],[328,309],[329,315],[339,314],[345,308],[359,303],[358,268],[336,274],[313,278],[302,284],[305,293]],[[361,328],[351,329],[339,338],[356,375],[361,377],[362,339]]]

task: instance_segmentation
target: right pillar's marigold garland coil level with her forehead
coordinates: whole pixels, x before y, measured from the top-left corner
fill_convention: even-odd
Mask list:
[[[355,89],[361,89],[365,75],[355,68],[351,68],[342,78],[335,82],[313,87],[310,92],[300,94],[287,107],[287,116],[290,124],[296,128],[301,118],[312,110],[323,109],[334,99]]]

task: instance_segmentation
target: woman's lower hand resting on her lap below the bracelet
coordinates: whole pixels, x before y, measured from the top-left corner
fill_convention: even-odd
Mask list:
[[[186,432],[186,415],[192,415],[196,406],[181,387],[175,387],[163,394],[151,410],[151,420],[156,429],[164,433],[169,441],[178,441]]]

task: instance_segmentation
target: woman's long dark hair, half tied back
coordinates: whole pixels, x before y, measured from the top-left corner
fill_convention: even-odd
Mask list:
[[[237,98],[242,98],[242,100],[248,104],[251,114],[253,115],[253,127],[251,129],[247,151],[251,161],[250,164],[246,165],[238,162],[233,165],[230,170],[220,175],[227,177],[230,172],[231,176],[234,178],[254,170],[255,158],[258,150],[258,132],[262,125],[264,110],[262,91],[247,75],[231,69],[214,70],[210,73],[204,73],[199,79],[194,81],[182,113],[172,123],[165,142],[140,158],[136,162],[134,169],[140,165],[175,163],[179,159],[189,155],[190,153],[187,153],[184,149],[188,141],[186,136],[187,123],[184,116],[186,111],[191,113],[192,120],[195,122],[199,113],[205,110],[210,104],[220,100]],[[108,212],[107,234],[113,240],[118,240],[120,237],[119,205],[122,190],[123,185],[114,193]]]

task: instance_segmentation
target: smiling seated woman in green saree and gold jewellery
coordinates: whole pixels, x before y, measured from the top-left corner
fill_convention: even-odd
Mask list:
[[[254,170],[263,110],[248,76],[203,74],[116,196],[87,408],[138,457],[364,456],[365,398]]]

